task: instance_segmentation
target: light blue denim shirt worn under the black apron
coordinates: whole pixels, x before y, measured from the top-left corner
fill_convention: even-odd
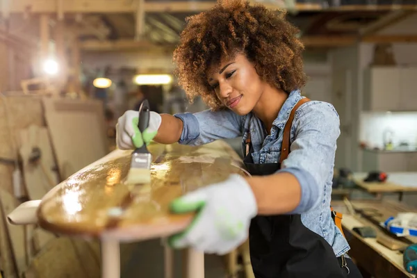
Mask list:
[[[254,163],[279,163],[284,126],[291,110],[301,98],[299,90],[288,95],[272,123],[270,135],[253,113],[240,116],[226,109],[176,114],[174,116],[183,121],[179,143],[203,145],[213,140],[242,136],[242,147],[245,150],[245,140],[250,131]],[[300,204],[291,213],[301,214],[304,226],[325,238],[336,256],[350,250],[330,213],[339,126],[339,117],[332,104],[324,101],[302,104],[295,111],[291,126],[291,152],[278,171],[293,174],[301,186]]]

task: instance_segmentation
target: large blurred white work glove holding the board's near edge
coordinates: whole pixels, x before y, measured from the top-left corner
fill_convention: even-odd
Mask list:
[[[187,193],[171,203],[173,213],[195,211],[193,222],[180,234],[170,236],[171,247],[193,247],[208,254],[227,254],[249,234],[257,204],[247,181],[238,174],[211,186]]]

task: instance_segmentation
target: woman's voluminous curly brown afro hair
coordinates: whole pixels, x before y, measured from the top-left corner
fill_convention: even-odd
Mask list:
[[[213,8],[186,18],[173,60],[179,85],[193,102],[201,96],[217,110],[220,100],[208,85],[207,72],[222,58],[243,53],[263,81],[284,92],[301,89],[304,45],[299,29],[286,20],[284,10],[268,10],[241,0],[220,0]]]

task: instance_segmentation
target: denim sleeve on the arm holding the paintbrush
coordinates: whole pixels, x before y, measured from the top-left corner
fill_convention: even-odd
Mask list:
[[[227,109],[198,113],[175,114],[183,121],[179,144],[203,145],[217,139],[236,138],[242,135],[243,116]]]

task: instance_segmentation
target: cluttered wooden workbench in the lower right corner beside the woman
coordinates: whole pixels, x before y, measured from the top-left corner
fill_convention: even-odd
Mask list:
[[[382,245],[377,238],[382,238],[385,242],[389,241],[391,246],[405,247],[417,243],[417,237],[398,238],[379,226],[379,222],[384,222],[390,216],[396,216],[404,211],[417,212],[416,208],[386,200],[358,200],[352,201],[351,204],[355,211],[354,215],[349,213],[343,202],[332,202],[334,209],[343,213],[343,232],[351,247],[348,254],[361,270],[363,278],[414,277],[404,270],[402,252]],[[363,238],[353,231],[354,227],[363,226],[373,227],[377,231],[377,238]]]

